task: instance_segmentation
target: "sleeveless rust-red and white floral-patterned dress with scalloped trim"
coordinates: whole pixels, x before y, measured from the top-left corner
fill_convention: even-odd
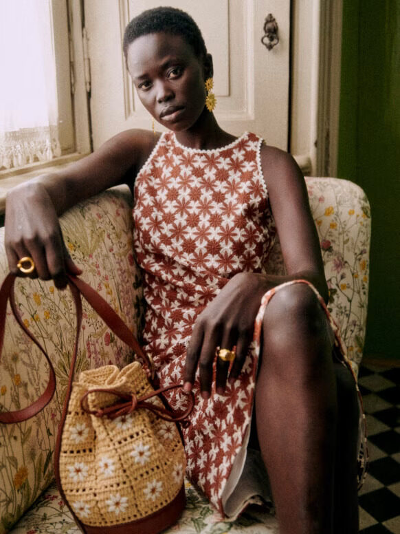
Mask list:
[[[144,277],[144,343],[162,386],[183,379],[192,327],[227,281],[236,273],[264,272],[276,227],[261,169],[262,143],[246,132],[226,147],[199,150],[180,145],[173,132],[163,133],[137,175],[133,220]],[[299,282],[311,286],[291,281],[263,297],[243,371],[233,385],[227,384],[225,394],[216,394],[213,386],[205,401],[196,375],[195,409],[190,426],[182,429],[187,475],[231,520],[250,502],[271,500],[260,455],[247,449],[260,330],[269,299],[279,288]],[[313,290],[346,364],[337,327]],[[168,401],[175,409],[186,405],[179,392]]]

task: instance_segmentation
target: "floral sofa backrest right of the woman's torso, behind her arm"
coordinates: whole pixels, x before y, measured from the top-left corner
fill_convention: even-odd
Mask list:
[[[328,308],[357,373],[368,307],[370,205],[364,191],[348,180],[306,178],[306,183],[329,286]],[[285,273],[278,240],[267,270]]]

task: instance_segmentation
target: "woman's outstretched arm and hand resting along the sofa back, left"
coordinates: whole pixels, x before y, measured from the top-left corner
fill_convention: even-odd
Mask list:
[[[12,189],[5,204],[5,250],[12,273],[19,273],[21,257],[30,256],[36,266],[33,276],[65,287],[65,274],[79,274],[80,269],[67,253],[58,216],[111,186],[133,187],[156,140],[151,132],[124,131],[66,169]]]

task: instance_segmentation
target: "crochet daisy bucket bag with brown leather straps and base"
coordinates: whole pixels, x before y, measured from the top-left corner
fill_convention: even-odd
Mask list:
[[[8,275],[0,288],[0,355],[9,299],[19,325],[49,362],[49,382],[32,405],[2,412],[0,423],[19,423],[38,414],[56,387],[52,363],[19,317],[14,279]],[[186,457],[176,422],[187,423],[194,398],[188,395],[186,412],[172,412],[162,394],[181,384],[153,389],[153,362],[118,314],[81,279],[69,277],[69,288],[77,327],[54,455],[58,489],[83,533],[157,534],[177,521],[186,504]],[[80,295],[141,363],[133,361],[122,370],[104,365],[81,372],[74,381],[82,321]]]

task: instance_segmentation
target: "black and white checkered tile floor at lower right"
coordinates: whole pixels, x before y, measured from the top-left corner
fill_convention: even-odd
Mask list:
[[[359,372],[370,467],[359,493],[360,534],[400,534],[400,367]]]

